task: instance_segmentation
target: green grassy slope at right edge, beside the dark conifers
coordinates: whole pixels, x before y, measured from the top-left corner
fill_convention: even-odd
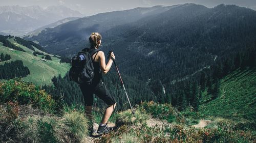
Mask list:
[[[203,93],[203,98],[209,95]],[[221,80],[217,99],[203,103],[200,113],[229,119],[255,120],[256,69],[236,70]]]

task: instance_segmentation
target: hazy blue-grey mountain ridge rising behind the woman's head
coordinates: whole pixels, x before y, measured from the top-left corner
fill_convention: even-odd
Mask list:
[[[158,15],[174,7],[177,6],[155,6],[100,13],[61,24],[51,30],[42,31],[38,36],[27,37],[27,39],[38,41],[42,46],[46,46],[49,52],[70,53],[72,50],[77,51],[81,48],[84,40],[88,39],[92,32],[103,33],[115,26],[132,23],[143,17]]]

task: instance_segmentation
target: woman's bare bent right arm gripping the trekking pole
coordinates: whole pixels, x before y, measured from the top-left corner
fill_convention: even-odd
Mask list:
[[[113,64],[113,61],[112,61],[112,59],[110,58],[108,64],[106,64],[106,63],[105,63],[105,55],[104,55],[104,52],[103,52],[103,51],[99,51],[98,55],[99,55],[99,65],[100,65],[100,69],[101,69],[101,71],[102,71],[104,74],[106,74],[106,73],[109,72],[109,70],[110,70],[110,68],[111,68],[111,66],[112,66],[112,64]],[[111,56],[115,59],[115,55],[114,55],[113,52],[111,53]]]

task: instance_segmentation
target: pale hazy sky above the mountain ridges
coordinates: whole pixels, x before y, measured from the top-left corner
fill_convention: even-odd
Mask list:
[[[195,3],[212,8],[219,4],[234,4],[256,10],[256,0],[0,0],[0,6],[19,5],[41,7],[63,5],[77,10],[84,15],[102,12],[133,9],[136,7],[152,7],[156,5],[171,6]]]

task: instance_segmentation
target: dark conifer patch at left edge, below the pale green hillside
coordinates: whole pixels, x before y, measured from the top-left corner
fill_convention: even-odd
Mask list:
[[[0,79],[12,79],[16,77],[25,77],[30,74],[28,67],[23,65],[22,61],[16,60],[11,63],[0,65]]]

